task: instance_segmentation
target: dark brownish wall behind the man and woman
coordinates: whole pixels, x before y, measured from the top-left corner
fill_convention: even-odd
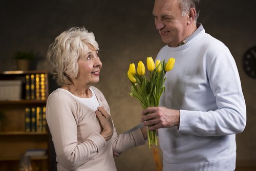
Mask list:
[[[103,68],[97,87],[111,108],[118,132],[139,123],[141,107],[130,97],[130,83],[123,73],[129,63],[156,57],[163,46],[155,30],[154,1],[5,1],[1,3],[0,70],[15,70],[16,50],[38,54],[31,69],[48,69],[45,55],[53,39],[72,26],[85,26],[95,33]],[[245,75],[242,56],[256,46],[256,1],[203,0],[199,17],[207,33],[229,47],[237,62],[247,104],[247,126],[237,136],[237,159],[256,161],[255,96],[256,79]],[[53,86],[52,86],[53,87]],[[154,170],[147,145],[136,147],[116,158],[118,170]]]

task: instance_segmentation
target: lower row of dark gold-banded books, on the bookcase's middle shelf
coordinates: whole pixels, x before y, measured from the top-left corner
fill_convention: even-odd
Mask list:
[[[46,107],[30,107],[25,109],[25,131],[47,132]]]

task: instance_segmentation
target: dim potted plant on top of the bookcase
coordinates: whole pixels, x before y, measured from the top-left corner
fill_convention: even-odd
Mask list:
[[[26,71],[29,70],[30,61],[35,58],[35,54],[32,51],[18,51],[15,53],[14,58],[17,62],[17,69]]]

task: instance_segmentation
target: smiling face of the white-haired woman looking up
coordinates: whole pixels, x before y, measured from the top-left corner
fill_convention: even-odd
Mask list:
[[[78,59],[78,75],[77,81],[90,86],[99,82],[99,73],[102,63],[98,56],[98,51],[92,48],[86,54],[83,54]]]

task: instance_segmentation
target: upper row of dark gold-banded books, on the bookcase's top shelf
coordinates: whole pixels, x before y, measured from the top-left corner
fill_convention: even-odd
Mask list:
[[[46,80],[45,73],[26,74],[26,99],[45,100]]]

